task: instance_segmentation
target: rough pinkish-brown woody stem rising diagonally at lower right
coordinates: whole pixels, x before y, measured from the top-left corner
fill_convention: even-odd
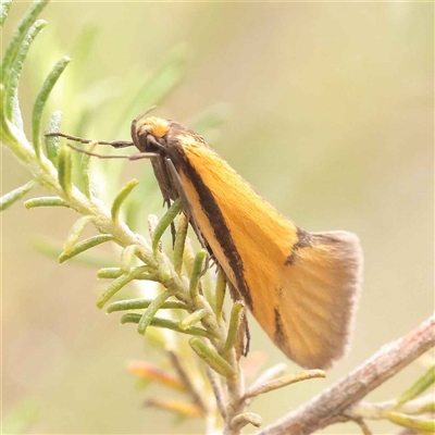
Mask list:
[[[435,341],[435,314],[403,337],[383,346],[372,358],[309,402],[259,431],[257,435],[308,435],[325,427],[371,390],[407,366]]]

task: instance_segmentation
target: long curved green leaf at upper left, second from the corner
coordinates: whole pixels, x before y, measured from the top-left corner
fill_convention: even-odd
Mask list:
[[[8,83],[5,86],[5,96],[4,96],[4,116],[7,120],[10,120],[11,122],[13,121],[13,112],[14,112],[14,105],[16,104],[16,94],[18,89],[18,82],[20,82],[20,76],[21,72],[23,70],[23,64],[24,60],[26,59],[28,49],[30,48],[32,42],[36,38],[36,36],[39,34],[39,32],[42,30],[44,27],[46,27],[47,22],[44,20],[38,20],[28,30],[27,35],[23,39],[23,42],[21,44],[21,47],[16,53],[16,57],[14,59],[14,62],[11,66],[11,70],[9,72],[9,77],[8,77]],[[16,108],[15,108],[16,112]],[[14,122],[16,125],[16,121]]]

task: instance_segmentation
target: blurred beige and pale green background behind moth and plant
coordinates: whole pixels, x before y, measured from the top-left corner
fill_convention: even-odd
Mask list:
[[[3,46],[27,5],[12,5]],[[154,114],[191,125],[211,108],[227,113],[219,135],[207,139],[262,196],[304,229],[360,236],[364,284],[349,356],[326,380],[257,399],[251,409],[264,424],[434,309],[433,9],[60,1],[41,14],[49,25],[30,50],[20,89],[27,125],[44,77],[66,54],[73,62],[50,101],[63,111],[62,129],[128,139],[130,119],[152,99],[142,89],[147,78],[187,53],[184,79]],[[29,178],[7,149],[1,159],[3,192]],[[110,167],[119,171],[121,163]],[[147,162],[129,163],[124,177],[144,172],[152,179]],[[104,176],[110,183],[110,173]],[[160,199],[152,198],[149,211],[161,215]],[[178,423],[141,407],[147,395],[163,391],[138,391],[126,364],[159,361],[159,355],[134,327],[120,327],[117,318],[95,308],[102,286],[95,270],[59,266],[33,249],[38,235],[61,246],[76,217],[69,210],[25,211],[21,203],[1,215],[3,412],[36,408],[24,428],[35,434],[202,433],[199,421]],[[252,319],[250,328],[251,348],[268,355],[268,365],[284,361]],[[370,399],[394,397],[422,373],[414,363]],[[359,428],[335,425],[324,433]]]

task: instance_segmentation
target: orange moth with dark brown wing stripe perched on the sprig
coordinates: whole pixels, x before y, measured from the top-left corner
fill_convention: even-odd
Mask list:
[[[347,349],[362,252],[345,231],[310,233],[259,196],[199,134],[138,116],[133,142],[150,158],[164,201],[182,199],[200,241],[273,343],[304,368],[327,369]]]

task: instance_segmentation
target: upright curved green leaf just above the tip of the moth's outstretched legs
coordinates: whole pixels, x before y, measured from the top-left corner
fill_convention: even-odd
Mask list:
[[[51,70],[50,74],[47,76],[44,85],[36,97],[34,110],[32,113],[32,133],[33,133],[33,141],[34,149],[36,156],[39,158],[41,152],[41,142],[40,142],[40,124],[42,119],[42,111],[47,103],[48,97],[50,96],[53,86],[58,82],[59,77],[62,75],[63,71],[71,62],[71,59],[67,57],[62,58]]]

